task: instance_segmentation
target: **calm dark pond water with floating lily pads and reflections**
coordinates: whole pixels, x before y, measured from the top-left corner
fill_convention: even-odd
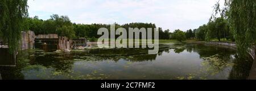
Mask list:
[[[0,72],[3,79],[246,79],[251,64],[233,49],[166,43],[158,55],[147,49],[27,50],[17,67]]]

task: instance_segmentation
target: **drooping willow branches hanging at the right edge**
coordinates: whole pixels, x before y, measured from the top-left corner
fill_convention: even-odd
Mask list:
[[[237,51],[240,56],[245,56],[256,39],[256,1],[255,0],[222,0],[214,7],[214,14],[210,18],[222,16],[228,19],[230,30],[236,40]]]

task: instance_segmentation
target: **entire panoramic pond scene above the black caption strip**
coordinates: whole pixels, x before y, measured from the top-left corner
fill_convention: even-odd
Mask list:
[[[255,0],[0,1],[0,80],[256,80],[255,43]]]

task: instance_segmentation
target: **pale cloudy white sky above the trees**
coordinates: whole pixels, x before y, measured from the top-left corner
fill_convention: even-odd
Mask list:
[[[67,15],[74,23],[155,23],[186,31],[206,24],[217,0],[28,0],[30,17]]]

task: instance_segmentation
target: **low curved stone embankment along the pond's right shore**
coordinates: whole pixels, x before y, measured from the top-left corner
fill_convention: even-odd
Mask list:
[[[185,43],[194,43],[194,44],[210,44],[210,45],[216,45],[216,46],[222,46],[226,48],[232,48],[236,49],[236,43],[233,42],[197,42],[197,41],[186,41]],[[256,80],[256,55],[255,55],[255,47],[251,48],[251,52],[249,52],[249,55],[251,58],[253,58],[253,64],[251,65],[251,70],[249,77],[247,79],[249,80]]]

